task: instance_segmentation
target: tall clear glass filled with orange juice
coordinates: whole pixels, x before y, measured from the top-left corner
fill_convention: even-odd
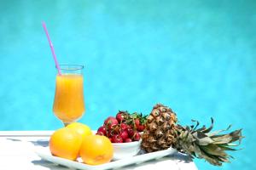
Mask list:
[[[60,65],[61,75],[56,76],[53,111],[67,126],[83,116],[84,88],[83,65]]]

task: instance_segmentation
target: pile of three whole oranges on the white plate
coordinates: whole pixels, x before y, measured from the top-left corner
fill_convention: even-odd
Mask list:
[[[90,127],[73,122],[57,129],[49,139],[53,156],[76,161],[80,156],[84,163],[100,165],[113,157],[113,145],[105,136],[93,135]]]

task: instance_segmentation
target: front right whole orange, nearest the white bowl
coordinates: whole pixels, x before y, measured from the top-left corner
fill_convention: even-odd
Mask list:
[[[105,136],[86,136],[80,148],[80,156],[89,165],[107,163],[113,157],[112,143]]]

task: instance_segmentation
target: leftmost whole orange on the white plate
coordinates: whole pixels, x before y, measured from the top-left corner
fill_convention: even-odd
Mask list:
[[[82,138],[71,128],[63,127],[55,131],[49,139],[49,150],[52,155],[76,160],[79,156]]]

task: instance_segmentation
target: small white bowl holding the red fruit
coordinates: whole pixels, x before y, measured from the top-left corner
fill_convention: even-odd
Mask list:
[[[112,143],[113,160],[120,160],[131,156],[136,156],[141,150],[142,139],[128,143]]]

